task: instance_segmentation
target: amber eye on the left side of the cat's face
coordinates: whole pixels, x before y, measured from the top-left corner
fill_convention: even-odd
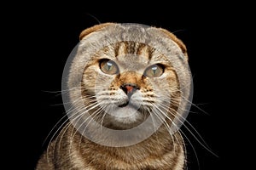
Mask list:
[[[118,74],[119,72],[118,65],[116,65],[115,62],[113,62],[113,60],[110,59],[102,59],[100,61],[100,67],[102,72],[109,75]]]

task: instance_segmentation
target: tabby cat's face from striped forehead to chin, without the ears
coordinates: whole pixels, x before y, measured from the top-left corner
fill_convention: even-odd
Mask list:
[[[149,114],[175,116],[180,99],[176,72],[155,48],[118,42],[102,48],[91,60],[84,69],[82,94],[86,106],[98,104],[90,111],[97,122],[131,128]]]

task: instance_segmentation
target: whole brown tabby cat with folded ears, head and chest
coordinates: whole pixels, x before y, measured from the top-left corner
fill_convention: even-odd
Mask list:
[[[79,39],[63,72],[67,123],[36,169],[184,169],[178,127],[192,96],[184,43],[163,28],[119,23]]]

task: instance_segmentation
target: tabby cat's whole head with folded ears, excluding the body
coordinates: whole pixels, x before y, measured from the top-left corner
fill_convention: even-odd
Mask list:
[[[79,38],[63,74],[71,122],[113,130],[147,122],[147,128],[177,130],[192,85],[181,40],[162,28],[115,23],[92,26]]]

